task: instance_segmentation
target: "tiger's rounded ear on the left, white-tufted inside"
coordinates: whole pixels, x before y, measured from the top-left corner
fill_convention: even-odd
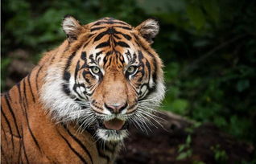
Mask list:
[[[76,20],[76,18],[73,18],[70,15],[64,17],[62,29],[66,33],[69,43],[77,39],[77,36],[81,33],[82,28],[83,27]]]

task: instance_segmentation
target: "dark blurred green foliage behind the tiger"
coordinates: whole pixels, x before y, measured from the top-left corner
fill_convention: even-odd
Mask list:
[[[198,125],[213,122],[237,140],[256,143],[255,1],[3,0],[2,92],[23,78],[15,68],[30,70],[42,52],[65,39],[66,14],[82,24],[109,16],[134,27],[158,18],[153,47],[165,65],[162,109]]]

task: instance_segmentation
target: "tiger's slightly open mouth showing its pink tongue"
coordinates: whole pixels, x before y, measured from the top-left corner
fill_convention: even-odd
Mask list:
[[[99,129],[109,129],[109,130],[122,130],[128,129],[130,124],[128,121],[123,121],[118,118],[114,118],[109,121],[100,121],[98,120],[98,128]]]

